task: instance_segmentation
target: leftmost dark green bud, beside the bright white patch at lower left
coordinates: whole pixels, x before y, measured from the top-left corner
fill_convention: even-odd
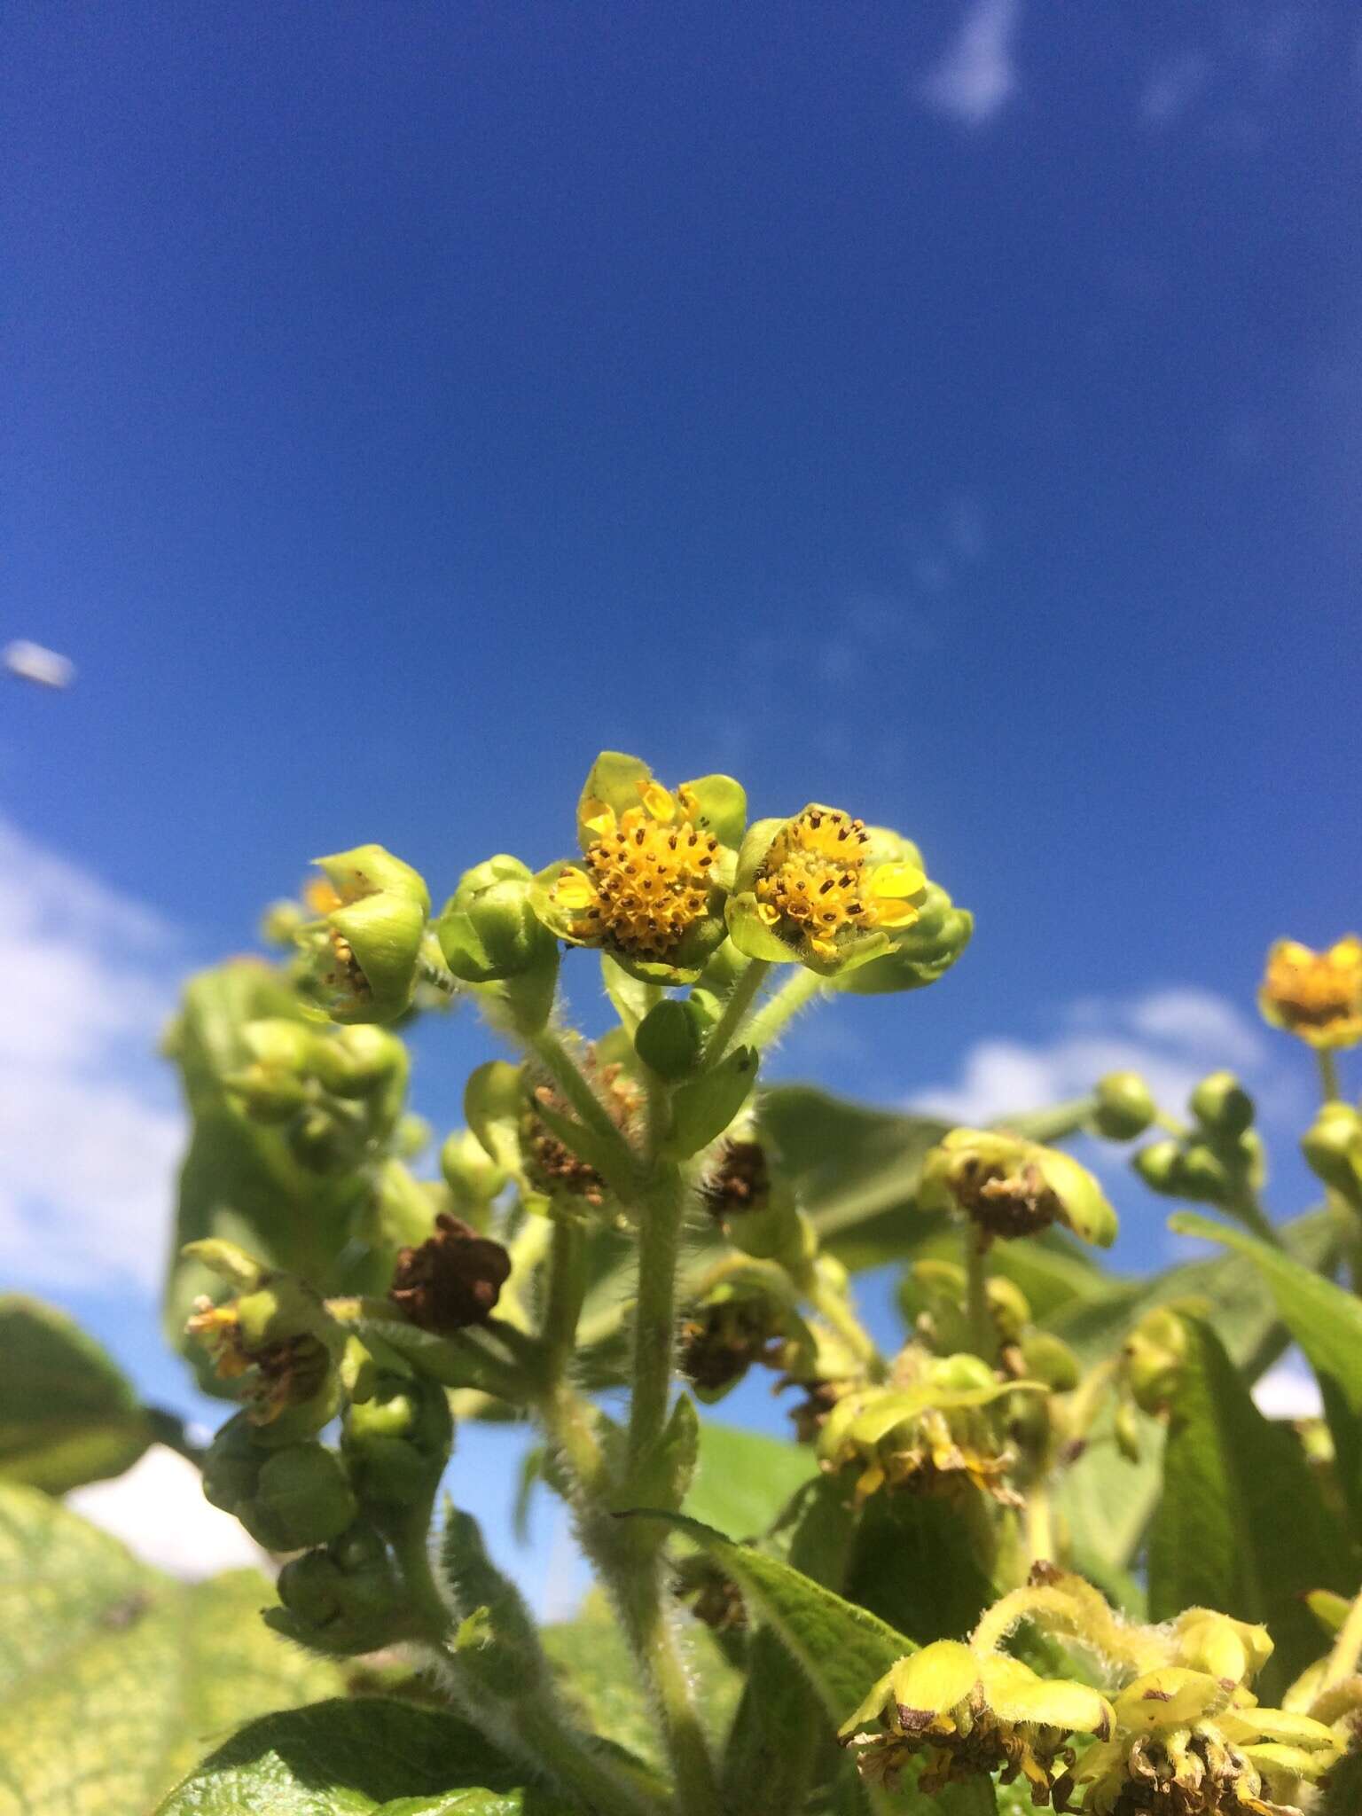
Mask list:
[[[321,1444],[265,1449],[238,1413],[212,1440],[203,1495],[234,1515],[267,1551],[301,1551],[336,1538],[358,1505],[340,1458]]]

